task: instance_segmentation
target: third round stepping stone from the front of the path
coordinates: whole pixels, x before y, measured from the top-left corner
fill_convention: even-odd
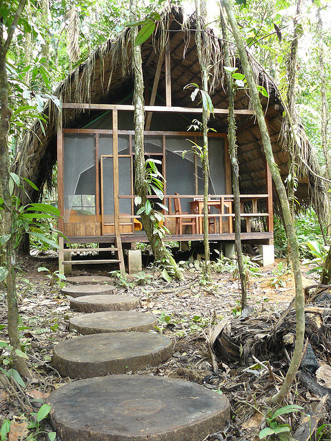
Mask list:
[[[146,312],[104,311],[72,318],[69,329],[86,335],[101,332],[147,332],[156,325],[157,318]]]

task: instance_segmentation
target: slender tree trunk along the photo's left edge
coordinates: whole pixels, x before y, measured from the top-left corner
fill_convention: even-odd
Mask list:
[[[9,175],[9,154],[8,154],[8,131],[12,110],[8,103],[8,76],[6,70],[6,55],[12,41],[17,22],[26,4],[26,0],[21,0],[14,15],[12,25],[8,30],[7,40],[4,40],[3,24],[0,23],[0,100],[1,100],[1,119],[0,119],[0,194],[3,197],[4,209],[1,214],[1,236],[12,234],[12,198],[10,194],[10,175]],[[19,342],[19,313],[17,308],[17,293],[14,265],[16,264],[16,250],[12,240],[7,240],[1,248],[2,261],[6,264],[8,275],[6,277],[7,303],[8,303],[8,334],[10,345],[12,346],[12,360],[14,368],[21,376],[30,376],[26,359],[19,356],[17,351],[21,350]]]

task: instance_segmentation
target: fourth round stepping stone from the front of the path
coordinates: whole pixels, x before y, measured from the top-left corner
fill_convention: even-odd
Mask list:
[[[70,299],[70,308],[80,312],[129,311],[139,306],[134,296],[82,296]]]

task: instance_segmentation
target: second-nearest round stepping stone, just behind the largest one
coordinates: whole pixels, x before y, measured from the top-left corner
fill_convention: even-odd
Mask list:
[[[65,340],[54,347],[52,362],[63,377],[92,378],[157,366],[171,351],[161,334],[113,332]]]

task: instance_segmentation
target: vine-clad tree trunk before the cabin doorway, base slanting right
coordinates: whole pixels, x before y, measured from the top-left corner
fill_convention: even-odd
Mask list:
[[[136,1],[130,1],[130,8],[133,13],[132,21],[135,19],[134,12],[136,11]],[[141,49],[140,46],[134,46],[134,39],[137,36],[138,30],[134,26],[131,29],[132,42],[132,65],[134,72],[134,187],[138,196],[141,197],[141,207],[146,205],[147,184],[145,179],[145,156],[143,148],[143,130],[145,126],[145,109],[143,100],[143,70],[141,66]],[[158,230],[159,223],[154,217],[154,210],[149,214],[141,213],[141,223],[145,229],[146,236],[150,241],[155,259],[159,262],[161,267],[165,268],[169,274],[174,277],[182,279],[183,273],[179,270],[177,263],[172,257],[171,252],[165,247],[161,237],[155,230]],[[154,234],[155,233],[155,234]]]

